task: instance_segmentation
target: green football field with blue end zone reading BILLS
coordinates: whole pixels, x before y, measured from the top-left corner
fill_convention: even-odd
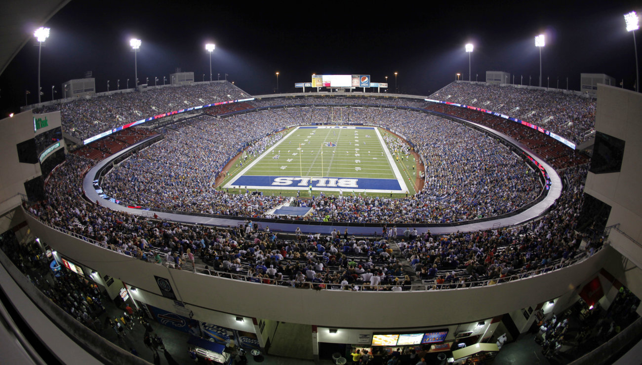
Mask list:
[[[370,126],[299,126],[223,185],[301,192],[408,191],[383,131]],[[243,158],[241,158],[243,161]]]

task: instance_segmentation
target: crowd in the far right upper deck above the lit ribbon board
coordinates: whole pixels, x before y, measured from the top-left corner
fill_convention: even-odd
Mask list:
[[[594,99],[566,94],[558,89],[542,90],[517,85],[450,83],[430,98],[477,106],[533,123],[575,142],[593,137]]]

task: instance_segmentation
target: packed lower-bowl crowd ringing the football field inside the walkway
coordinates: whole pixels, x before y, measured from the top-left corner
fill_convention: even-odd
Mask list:
[[[275,109],[230,118],[190,119],[173,127],[178,132],[169,131],[162,142],[123,162],[107,175],[101,187],[112,198],[132,205],[261,216],[284,199],[217,191],[209,183],[213,173],[238,153],[245,140],[297,122],[328,123],[335,120],[334,115],[336,123],[379,125],[412,140],[426,164],[424,187],[402,199],[356,194],[318,197],[304,203],[314,208],[305,219],[330,216],[331,221],[371,223],[466,221],[510,213],[542,191],[537,174],[496,140],[440,117],[384,108]],[[257,155],[280,137],[277,133],[259,139],[247,153]],[[386,140],[391,149],[410,158],[408,144],[399,139]]]

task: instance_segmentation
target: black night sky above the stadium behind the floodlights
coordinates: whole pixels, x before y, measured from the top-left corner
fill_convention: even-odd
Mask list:
[[[499,2],[497,2],[499,3]],[[642,6],[634,1],[514,2],[494,5],[442,2],[428,6],[373,6],[374,3],[300,2],[218,6],[211,1],[80,1],[56,13],[46,26],[51,35],[42,49],[42,101],[51,100],[51,85],[92,71],[98,92],[121,89],[134,80],[134,53],[129,39],[143,41],[137,55],[141,83],[156,76],[169,79],[180,67],[196,81],[209,78],[206,42],[216,44],[213,78],[228,80],[250,94],[296,92],[295,82],[316,74],[370,74],[373,82],[428,95],[455,79],[468,79],[464,44],[475,46],[473,80],[485,71],[520,75],[537,83],[539,53],[534,36],[546,34],[542,50],[543,80],[551,87],[579,89],[581,72],[606,73],[633,89],[633,37],[623,14]],[[642,33],[636,35],[642,38]],[[18,112],[37,96],[37,42],[28,42],[0,75],[0,112]]]

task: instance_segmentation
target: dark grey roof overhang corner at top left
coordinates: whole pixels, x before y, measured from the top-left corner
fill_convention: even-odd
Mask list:
[[[0,11],[0,74],[44,25],[70,0],[3,0]]]

